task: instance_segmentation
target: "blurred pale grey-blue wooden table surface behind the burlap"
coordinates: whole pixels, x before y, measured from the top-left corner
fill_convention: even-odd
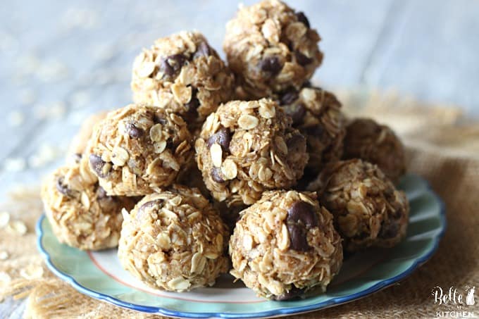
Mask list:
[[[244,1],[252,4],[255,1]],[[2,1],[0,200],[62,163],[78,125],[125,106],[133,58],[197,29],[218,52],[237,1]],[[323,37],[323,87],[396,89],[479,115],[479,1],[297,0]],[[0,239],[1,240],[1,239]],[[18,318],[22,303],[0,304]]]

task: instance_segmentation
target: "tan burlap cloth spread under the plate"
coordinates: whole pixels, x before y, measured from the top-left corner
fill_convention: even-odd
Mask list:
[[[376,118],[402,137],[409,171],[429,180],[442,197],[448,228],[435,256],[402,282],[361,300],[297,318],[435,318],[440,308],[431,296],[434,287],[454,286],[464,291],[466,286],[475,286],[479,291],[479,122],[467,120],[457,108],[425,106],[395,94],[339,95],[348,115]],[[23,220],[29,231],[20,236],[0,230],[0,251],[10,254],[0,261],[0,273],[12,279],[0,285],[0,299],[28,297],[25,317],[153,317],[84,296],[46,269],[35,245],[35,223],[42,213],[37,189],[14,192],[11,201],[0,207],[4,210]],[[466,308],[476,316],[478,301]]]

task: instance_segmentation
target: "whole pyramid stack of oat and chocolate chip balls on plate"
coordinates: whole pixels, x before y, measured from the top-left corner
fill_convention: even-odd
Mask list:
[[[88,120],[44,182],[56,237],[118,245],[151,287],[211,286],[229,270],[274,300],[325,291],[343,249],[400,242],[402,143],[311,85],[320,39],[304,13],[266,0],[226,26],[228,65],[199,32],[156,40],[133,65],[135,104]]]

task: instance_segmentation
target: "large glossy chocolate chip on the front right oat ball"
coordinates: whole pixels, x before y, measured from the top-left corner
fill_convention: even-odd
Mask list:
[[[295,251],[308,251],[306,235],[311,227],[318,227],[318,216],[311,204],[297,201],[287,211],[287,230],[290,234],[290,248]]]

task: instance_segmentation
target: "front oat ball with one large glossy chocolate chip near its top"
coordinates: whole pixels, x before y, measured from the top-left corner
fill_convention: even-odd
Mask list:
[[[241,213],[230,273],[259,296],[286,300],[326,287],[342,265],[340,235],[316,193],[270,191]]]

